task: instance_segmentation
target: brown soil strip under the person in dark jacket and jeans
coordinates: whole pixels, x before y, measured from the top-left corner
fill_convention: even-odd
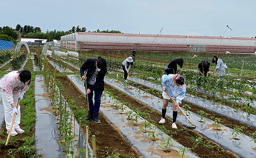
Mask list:
[[[67,76],[57,77],[57,79],[62,83],[62,85],[64,85],[64,89],[68,89],[69,83],[67,83],[67,81],[69,79]],[[81,95],[83,97],[78,97]],[[79,105],[79,108],[87,110],[87,103],[84,94],[80,93],[80,91],[72,84],[70,86],[68,99],[74,99],[76,104]],[[140,154],[137,150],[128,144],[128,141],[125,140],[119,129],[111,124],[108,121],[108,118],[106,118],[102,113],[99,114],[99,120],[101,121],[100,124],[96,124],[93,121],[90,121],[89,124],[90,135],[96,135],[97,158],[104,158],[114,154],[129,155],[140,158]],[[85,133],[85,127],[83,127],[83,129]],[[90,141],[89,143],[92,147]],[[125,156],[121,157],[125,158]]]

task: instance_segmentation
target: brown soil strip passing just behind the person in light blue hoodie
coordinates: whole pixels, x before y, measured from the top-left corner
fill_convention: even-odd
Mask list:
[[[134,87],[138,87],[138,88],[141,88],[141,90],[145,90],[145,89],[148,89],[148,87],[144,86],[144,85],[139,85],[139,84],[133,84]],[[158,91],[157,90],[154,90],[154,94],[156,94]],[[151,93],[151,92],[149,92]],[[210,96],[208,96],[208,100],[210,99],[209,98]],[[161,96],[160,97],[161,99],[163,99],[163,97]],[[172,101],[169,101],[169,102],[172,102]],[[221,115],[218,115],[212,111],[209,111],[209,110],[206,110],[206,109],[203,109],[202,107],[198,107],[196,105],[192,105],[190,104],[189,102],[184,102],[182,101],[183,103],[180,104],[180,107],[183,107],[183,104],[189,104],[189,106],[191,107],[191,109],[189,111],[192,111],[193,113],[198,113],[198,111],[202,110],[204,112],[206,112],[208,115],[203,115],[205,118],[209,118],[212,120],[212,118],[221,118],[221,124],[224,125],[224,126],[227,126],[227,127],[230,127],[230,128],[234,128],[236,126],[239,126],[241,128],[243,128],[243,130],[241,131],[241,133],[245,134],[245,135],[248,135],[252,138],[256,138],[256,135],[253,134],[253,133],[256,133],[256,129],[254,129],[253,127],[251,126],[247,126],[246,124],[244,123],[241,123],[241,122],[236,122],[236,121],[233,121],[232,119],[230,118],[226,118],[224,116],[221,116]],[[229,105],[229,103],[226,103],[225,105]],[[214,105],[213,105],[214,106]],[[213,120],[214,121],[214,120]]]

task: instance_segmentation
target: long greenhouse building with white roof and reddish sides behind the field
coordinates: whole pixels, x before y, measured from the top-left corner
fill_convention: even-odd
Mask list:
[[[188,51],[254,54],[255,38],[77,32],[61,37],[73,50]]]

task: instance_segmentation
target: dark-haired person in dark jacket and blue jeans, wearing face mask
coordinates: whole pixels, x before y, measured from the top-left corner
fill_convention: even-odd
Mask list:
[[[84,71],[87,71],[84,76]],[[99,107],[101,103],[101,96],[104,90],[104,77],[107,71],[107,62],[101,56],[98,59],[87,59],[80,68],[81,78],[85,80],[84,86],[88,89],[85,94],[88,98],[89,114],[85,118],[87,121],[94,121],[101,123],[99,120]],[[87,84],[87,85],[85,85]],[[94,104],[93,104],[94,91]]]

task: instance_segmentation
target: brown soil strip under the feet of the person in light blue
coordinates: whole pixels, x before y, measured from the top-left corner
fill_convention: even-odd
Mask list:
[[[118,96],[116,97],[116,99],[118,99],[119,101],[127,102],[128,107],[130,107],[131,109],[137,109],[142,113],[144,112],[145,114],[141,116],[147,119],[149,122],[158,126],[156,122],[160,120],[161,113],[155,111],[154,109],[151,109],[147,105],[139,102],[137,99],[134,99],[133,97],[120,92],[111,85],[105,84],[105,88],[111,93],[113,93],[114,96]],[[166,123],[161,125],[160,128],[163,129],[164,127],[166,129],[166,131],[164,132],[167,134],[172,134],[175,141],[182,144],[184,147],[193,148],[195,142],[193,142],[191,138],[198,136],[201,137],[201,135],[195,131],[186,129],[185,127],[180,126],[179,124],[177,124],[177,127],[179,129],[179,131],[177,132],[176,130],[172,129],[172,127],[170,126],[171,123],[172,119],[167,118]],[[218,144],[207,140],[206,137],[204,137],[203,139],[204,141],[198,144],[198,147],[194,147],[194,149],[191,149],[191,151],[194,152],[199,157],[216,158],[216,155],[218,155],[218,157],[220,158],[237,158],[237,156],[234,153],[223,150],[223,148],[219,147]],[[212,146],[209,144],[211,144]],[[207,145],[211,147],[205,147]]]

